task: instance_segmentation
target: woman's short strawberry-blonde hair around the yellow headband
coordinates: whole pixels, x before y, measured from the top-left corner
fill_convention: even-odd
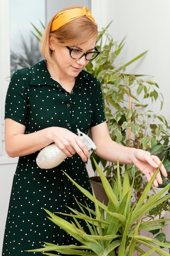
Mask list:
[[[63,9],[62,11],[74,8],[82,7],[74,5]],[[49,21],[47,27],[45,28],[40,47],[40,52],[47,61],[52,61],[52,51],[49,47],[49,40],[51,40],[54,45],[58,46],[74,46],[86,42],[90,43],[94,39],[97,40],[97,25],[87,16],[76,18],[70,22],[67,22],[56,31],[50,32],[54,17]]]

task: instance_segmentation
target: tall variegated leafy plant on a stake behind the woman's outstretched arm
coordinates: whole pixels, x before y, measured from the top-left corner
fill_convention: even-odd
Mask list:
[[[105,116],[112,140],[123,146],[150,151],[150,148],[158,143],[161,134],[170,135],[166,118],[157,115],[150,109],[152,103],[157,103],[161,110],[163,96],[158,91],[157,83],[147,79],[147,76],[126,73],[126,68],[130,64],[139,61],[147,51],[123,64],[119,61],[119,54],[125,45],[125,38],[119,44],[114,42],[112,36],[107,32],[109,25],[99,32],[97,48],[101,53],[94,61],[89,62],[85,68],[101,82]],[[118,67],[115,63],[118,63]],[[105,175],[111,177],[114,183],[117,176],[116,164],[103,161],[94,152],[92,152],[92,156],[98,164],[101,164]],[[166,167],[168,167],[168,164]],[[92,168],[96,171],[93,162]],[[122,165],[122,178],[123,168]],[[135,173],[134,197],[138,199],[143,193],[147,180],[135,166],[131,165],[128,169],[130,184],[132,184],[132,177]],[[167,182],[166,179],[166,184]],[[163,183],[164,185],[165,183]]]

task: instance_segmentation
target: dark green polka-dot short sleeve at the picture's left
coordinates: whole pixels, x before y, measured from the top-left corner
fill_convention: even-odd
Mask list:
[[[17,70],[11,77],[5,101],[5,118],[26,126],[28,115],[27,88],[30,83],[26,69]]]

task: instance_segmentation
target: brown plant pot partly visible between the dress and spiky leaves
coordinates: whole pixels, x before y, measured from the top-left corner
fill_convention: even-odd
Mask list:
[[[105,193],[105,190],[103,189],[101,178],[99,176],[90,177],[90,183],[94,189],[96,199],[102,203],[104,202],[104,204],[107,205],[109,202],[109,199]]]

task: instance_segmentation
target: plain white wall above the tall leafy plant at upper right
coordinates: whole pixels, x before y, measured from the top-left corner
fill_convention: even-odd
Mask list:
[[[120,61],[126,63],[148,50],[142,61],[131,65],[127,68],[127,72],[151,75],[151,79],[158,83],[164,97],[161,114],[168,120],[170,117],[169,12],[169,0],[92,0],[92,13],[99,29],[113,20],[109,32],[114,40],[120,43],[126,36]],[[158,112],[159,107],[160,104],[153,104],[154,111]]]

